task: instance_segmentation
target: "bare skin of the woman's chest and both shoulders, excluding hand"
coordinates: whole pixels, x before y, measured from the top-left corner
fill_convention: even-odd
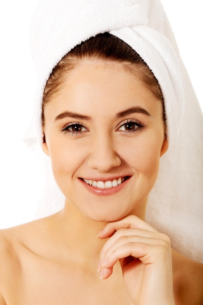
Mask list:
[[[71,223],[71,237],[66,231],[66,238],[63,217],[59,212],[1,230],[0,305],[132,305],[119,263],[108,279],[100,279],[97,271],[106,239],[96,234],[104,224],[92,231]],[[78,235],[81,252],[75,255]],[[172,254],[175,304],[202,305],[203,266],[174,250]]]

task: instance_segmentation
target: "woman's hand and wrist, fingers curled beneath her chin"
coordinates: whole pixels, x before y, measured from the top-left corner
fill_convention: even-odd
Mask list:
[[[120,262],[129,297],[136,305],[174,305],[169,238],[131,215],[111,222],[98,237],[108,238],[100,253],[100,273],[111,276]]]

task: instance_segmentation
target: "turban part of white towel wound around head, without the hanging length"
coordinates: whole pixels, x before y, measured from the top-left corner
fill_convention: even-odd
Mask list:
[[[183,116],[181,73],[176,54],[162,34],[165,30],[159,1],[153,0],[42,0],[32,27],[31,49],[39,77],[37,114],[53,67],[75,45],[98,33],[110,32],[127,42],[147,62],[165,98],[167,137],[177,138]],[[154,14],[161,16],[159,31]],[[157,21],[157,20],[156,20]],[[155,29],[154,29],[155,28]]]

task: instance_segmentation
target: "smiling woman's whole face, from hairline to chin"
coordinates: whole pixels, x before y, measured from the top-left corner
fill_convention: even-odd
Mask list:
[[[167,141],[162,103],[136,75],[83,61],[44,115],[43,150],[66,202],[96,221],[145,208]]]

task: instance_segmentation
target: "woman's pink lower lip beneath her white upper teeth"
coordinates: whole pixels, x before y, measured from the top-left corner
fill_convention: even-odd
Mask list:
[[[121,191],[126,184],[129,182],[130,178],[128,178],[126,181],[123,183],[119,184],[117,187],[112,187],[108,189],[99,189],[96,187],[92,187],[92,185],[87,184],[83,179],[79,179],[79,181],[84,185],[84,187],[88,190],[91,191],[93,194],[96,195],[102,195],[102,196],[108,196],[108,195],[113,195],[119,191]]]

